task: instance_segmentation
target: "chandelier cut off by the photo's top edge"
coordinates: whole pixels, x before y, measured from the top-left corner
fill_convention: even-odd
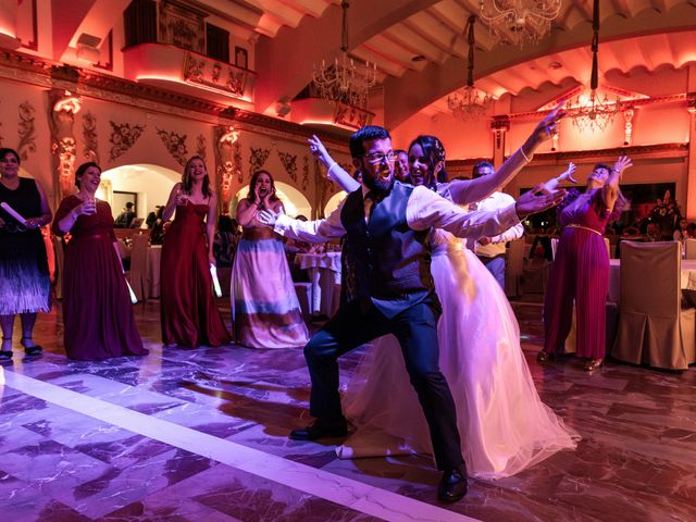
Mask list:
[[[522,47],[551,30],[561,0],[481,0],[481,18],[500,41]]]

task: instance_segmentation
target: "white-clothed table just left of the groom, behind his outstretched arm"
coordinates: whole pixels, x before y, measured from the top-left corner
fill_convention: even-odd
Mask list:
[[[340,252],[298,253],[295,262],[309,274],[312,314],[332,316],[338,301],[334,293],[340,285]]]

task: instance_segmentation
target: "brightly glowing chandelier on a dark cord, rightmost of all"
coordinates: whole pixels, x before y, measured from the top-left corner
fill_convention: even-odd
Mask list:
[[[573,125],[579,130],[605,130],[612,122],[618,112],[621,111],[619,97],[613,100],[605,94],[600,97],[597,94],[598,65],[597,53],[599,51],[599,0],[595,0],[592,21],[592,77],[589,80],[589,96],[584,98],[579,96],[574,103],[568,108],[568,115],[572,119]],[[584,99],[583,99],[584,98]]]

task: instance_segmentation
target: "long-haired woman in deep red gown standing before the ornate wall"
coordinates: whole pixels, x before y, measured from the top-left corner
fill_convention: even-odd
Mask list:
[[[164,221],[174,210],[162,245],[162,341],[187,348],[226,345],[229,333],[215,306],[210,275],[217,202],[198,156],[188,160],[182,182],[172,188]]]

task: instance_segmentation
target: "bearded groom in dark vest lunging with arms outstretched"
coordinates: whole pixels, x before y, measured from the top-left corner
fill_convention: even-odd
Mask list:
[[[444,472],[438,498],[456,501],[467,493],[455,402],[439,370],[437,318],[439,302],[431,277],[427,236],[432,226],[458,237],[494,236],[558,202],[561,192],[534,196],[496,212],[467,213],[425,187],[394,182],[389,133],[368,126],[350,138],[353,165],[362,187],[351,192],[327,219],[297,222],[261,212],[260,221],[281,235],[310,243],[347,235],[356,262],[356,298],[304,347],[312,381],[310,413],[315,421],[294,430],[290,438],[315,440],[348,433],[338,395],[337,359],[376,337],[394,334],[411,384],[430,426],[435,461]]]

